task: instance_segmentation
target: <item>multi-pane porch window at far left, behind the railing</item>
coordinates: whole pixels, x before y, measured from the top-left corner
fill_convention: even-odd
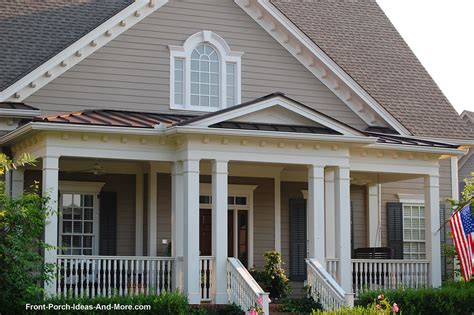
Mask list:
[[[64,255],[96,255],[99,247],[99,199],[104,183],[59,183],[59,247]]]

